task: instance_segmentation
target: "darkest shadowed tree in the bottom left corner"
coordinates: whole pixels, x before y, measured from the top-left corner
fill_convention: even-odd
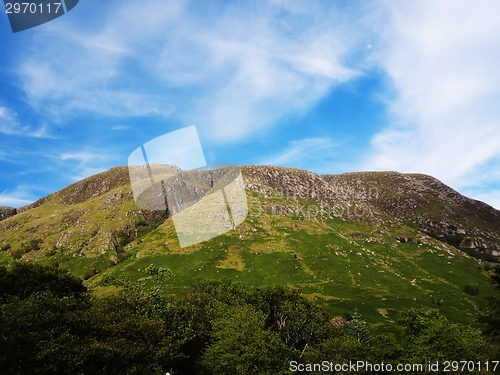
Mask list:
[[[88,307],[87,298],[58,298],[48,291],[2,305],[2,373],[71,373],[82,351],[82,323]]]

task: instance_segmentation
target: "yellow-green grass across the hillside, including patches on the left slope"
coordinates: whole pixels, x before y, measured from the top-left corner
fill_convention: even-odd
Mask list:
[[[93,207],[104,204],[105,199],[98,197],[92,202]],[[259,194],[250,193],[250,206],[257,207],[259,199],[263,199]],[[279,196],[272,200],[273,204],[285,204]],[[131,205],[127,202],[111,212],[93,210],[88,220],[102,223],[107,231],[112,230],[126,222],[125,212],[133,210]],[[50,212],[41,206],[31,213],[23,213],[18,218],[21,228],[28,225],[49,228],[51,215],[70,215],[74,210],[92,208],[90,202],[71,206],[71,209],[64,205],[55,207]],[[28,214],[38,218],[30,218]],[[121,219],[114,220],[113,215]],[[129,217],[129,220],[137,218]],[[88,237],[95,229],[92,228],[90,224],[83,224],[81,241],[92,242]],[[49,244],[64,232],[51,230]],[[14,248],[37,237],[36,233],[23,233],[17,243],[13,243]],[[401,243],[397,236],[414,241]],[[476,260],[423,235],[414,227],[396,222],[381,225],[321,217],[308,220],[300,215],[272,215],[253,209],[236,231],[189,248],[179,247],[172,221],[167,220],[126,245],[128,258],[118,259],[117,264],[112,261],[117,258],[114,251],[101,254],[91,250],[90,244],[83,248],[86,256],[58,250],[38,261],[59,265],[88,279],[86,285],[96,294],[119,290],[105,286],[103,276],[138,280],[144,276],[141,270],[150,264],[173,272],[167,293],[182,293],[196,280],[204,278],[229,278],[255,287],[288,285],[314,298],[332,315],[352,313],[357,308],[367,321],[379,327],[386,327],[404,308],[418,306],[438,307],[454,321],[474,323],[486,305],[486,298],[493,294]],[[7,251],[0,251],[0,263],[9,259]],[[477,286],[479,294],[464,293],[464,285]],[[433,303],[433,298],[439,305]]]

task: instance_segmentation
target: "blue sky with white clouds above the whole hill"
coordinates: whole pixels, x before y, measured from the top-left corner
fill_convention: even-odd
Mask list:
[[[0,205],[196,125],[209,163],[433,175],[500,208],[498,1],[97,1],[0,14]]]

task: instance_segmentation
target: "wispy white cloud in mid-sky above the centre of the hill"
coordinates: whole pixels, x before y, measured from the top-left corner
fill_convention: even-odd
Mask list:
[[[357,74],[342,61],[357,35],[342,32],[340,18],[322,18],[316,8],[300,14],[303,24],[280,24],[274,11],[268,7],[248,16],[245,9],[234,10],[192,41],[193,50],[208,49],[208,73],[215,72],[218,82],[187,114],[187,122],[201,126],[202,133],[204,127],[212,139],[242,138],[301,114]]]

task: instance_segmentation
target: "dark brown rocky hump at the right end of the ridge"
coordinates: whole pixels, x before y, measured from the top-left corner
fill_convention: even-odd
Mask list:
[[[434,177],[360,172],[323,178],[340,190],[369,192],[356,198],[459,249],[499,255],[500,211],[463,196]]]

